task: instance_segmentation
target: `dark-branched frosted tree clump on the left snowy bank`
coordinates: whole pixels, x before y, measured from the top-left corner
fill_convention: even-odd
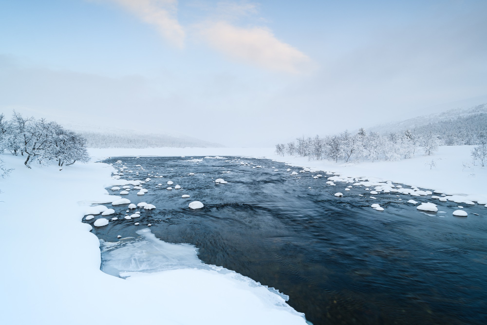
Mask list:
[[[24,117],[15,112],[11,119],[0,114],[0,152],[25,157],[27,167],[34,162],[55,161],[59,166],[87,162],[86,140],[56,122]]]

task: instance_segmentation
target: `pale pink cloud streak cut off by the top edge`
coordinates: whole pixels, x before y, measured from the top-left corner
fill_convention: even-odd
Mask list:
[[[142,21],[154,25],[159,33],[178,48],[184,46],[185,31],[176,18],[177,0],[111,0]]]

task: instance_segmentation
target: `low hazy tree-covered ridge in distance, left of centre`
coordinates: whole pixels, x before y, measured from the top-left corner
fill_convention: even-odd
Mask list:
[[[198,139],[178,138],[164,134],[112,134],[80,132],[86,139],[88,148],[185,148],[185,147],[222,147]]]

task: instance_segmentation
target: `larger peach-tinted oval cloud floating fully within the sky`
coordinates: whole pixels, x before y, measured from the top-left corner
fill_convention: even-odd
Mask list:
[[[264,27],[242,28],[217,21],[200,24],[198,28],[210,47],[234,60],[287,73],[303,72],[311,63],[308,56]]]

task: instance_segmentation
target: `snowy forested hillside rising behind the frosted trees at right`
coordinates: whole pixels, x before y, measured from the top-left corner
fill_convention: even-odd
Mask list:
[[[382,124],[368,131],[391,134],[406,130],[419,136],[435,134],[445,145],[477,144],[479,136],[487,136],[487,103],[466,110],[455,109]]]

